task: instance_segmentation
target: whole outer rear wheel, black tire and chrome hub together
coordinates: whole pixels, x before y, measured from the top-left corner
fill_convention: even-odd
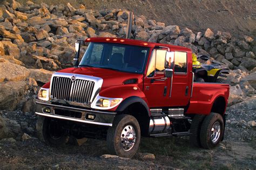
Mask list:
[[[217,113],[206,116],[200,131],[200,143],[203,148],[211,149],[217,146],[224,133],[223,117]]]

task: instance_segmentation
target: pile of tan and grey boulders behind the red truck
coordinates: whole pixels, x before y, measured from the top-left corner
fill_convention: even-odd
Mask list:
[[[126,10],[89,10],[69,3],[4,2],[0,6],[0,143],[35,136],[33,99],[38,88],[50,80],[53,71],[72,66],[76,39],[125,37],[127,16]],[[132,38],[185,46],[230,68],[230,75],[225,77],[231,85],[227,140],[255,144],[254,37],[232,36],[210,28],[197,32],[135,16]]]

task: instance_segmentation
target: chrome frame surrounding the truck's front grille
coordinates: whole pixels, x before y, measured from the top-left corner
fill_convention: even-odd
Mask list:
[[[91,107],[91,103],[93,102],[93,99],[95,99],[95,97],[98,95],[99,93],[99,90],[101,87],[102,87],[102,84],[103,84],[103,79],[100,78],[100,77],[94,77],[94,76],[88,76],[88,75],[81,75],[81,74],[71,74],[71,73],[54,73],[51,77],[51,84],[50,84],[50,89],[49,89],[49,94],[50,94],[50,100],[56,100],[56,99],[52,99],[51,97],[51,88],[52,88],[52,81],[53,81],[53,77],[68,77],[71,79],[72,76],[76,76],[76,80],[77,79],[80,79],[80,80],[86,80],[86,81],[92,81],[94,82],[94,88],[92,90],[92,95],[91,95],[91,98],[90,98],[90,101],[88,104],[85,104],[85,103],[82,103],[82,104],[85,104],[86,107]],[[72,80],[72,79],[71,79]],[[74,83],[72,83],[71,86],[73,86]],[[87,84],[87,83],[86,83]],[[57,90],[57,89],[55,89]],[[72,92],[73,93],[73,92]],[[71,95],[71,93],[70,93]],[[75,93],[75,94],[72,94],[72,95],[78,95],[78,93]],[[63,100],[64,101],[64,100]],[[66,102],[71,102],[71,101],[66,101]]]

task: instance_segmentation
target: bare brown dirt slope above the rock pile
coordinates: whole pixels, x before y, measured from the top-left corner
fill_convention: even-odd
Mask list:
[[[8,0],[11,2],[11,0]],[[17,0],[25,3],[25,0]],[[194,31],[229,31],[235,37],[256,35],[255,0],[31,0],[46,4],[84,4],[87,9],[127,9],[166,25],[188,27]],[[1,3],[1,2],[0,2]]]

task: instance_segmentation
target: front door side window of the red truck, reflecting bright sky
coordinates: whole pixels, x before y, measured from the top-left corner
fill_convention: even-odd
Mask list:
[[[157,56],[156,56],[157,53]],[[147,77],[153,77],[155,72],[164,72],[166,50],[157,49],[152,52]]]

